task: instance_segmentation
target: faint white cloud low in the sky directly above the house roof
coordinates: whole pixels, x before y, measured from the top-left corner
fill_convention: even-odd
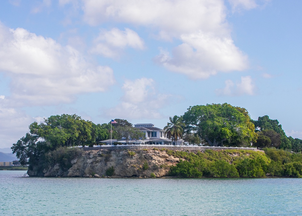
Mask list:
[[[148,78],[126,80],[122,87],[124,96],[121,98],[121,103],[106,110],[105,113],[123,119],[162,118],[163,115],[158,109],[167,105],[171,96],[156,93],[154,85],[154,80]]]

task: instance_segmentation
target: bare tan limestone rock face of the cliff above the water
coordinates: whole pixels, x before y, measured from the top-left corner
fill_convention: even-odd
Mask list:
[[[116,177],[156,177],[166,176],[170,165],[176,165],[179,158],[168,155],[165,151],[153,149],[101,149],[83,151],[71,160],[72,167],[63,171],[59,164],[47,167],[43,173],[29,171],[30,176],[94,177],[108,176],[106,171],[114,169]],[[90,176],[89,176],[90,177]],[[93,177],[93,176],[92,176]]]

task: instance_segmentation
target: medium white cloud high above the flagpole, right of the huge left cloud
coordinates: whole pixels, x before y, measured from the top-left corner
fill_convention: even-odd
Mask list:
[[[126,47],[142,50],[144,46],[143,39],[129,28],[125,28],[125,31],[121,31],[118,28],[112,28],[110,31],[102,29],[99,37],[94,41],[94,47],[91,52],[114,58],[118,57],[119,53]]]

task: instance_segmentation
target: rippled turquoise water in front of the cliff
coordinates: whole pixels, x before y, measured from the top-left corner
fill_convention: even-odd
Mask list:
[[[0,215],[302,215],[302,179],[23,177],[0,171]]]

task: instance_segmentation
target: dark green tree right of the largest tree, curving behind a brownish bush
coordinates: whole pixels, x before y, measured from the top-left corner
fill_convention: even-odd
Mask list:
[[[254,121],[254,125],[256,130],[263,131],[263,130],[274,130],[281,136],[281,145],[280,149],[291,149],[291,142],[287,138],[284,130],[282,129],[281,124],[279,124],[278,120],[270,119],[268,116],[258,117],[257,121]]]

